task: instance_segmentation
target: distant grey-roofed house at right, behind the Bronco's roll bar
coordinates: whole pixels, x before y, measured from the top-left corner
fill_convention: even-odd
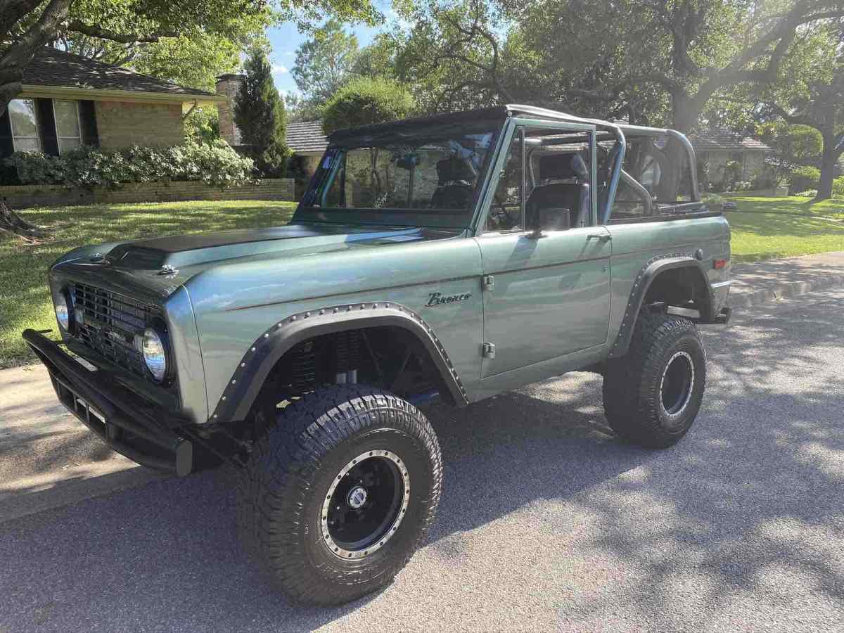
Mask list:
[[[701,184],[764,180],[765,159],[773,152],[765,143],[725,129],[690,134],[689,140],[695,148],[698,170],[703,171],[708,181]],[[734,165],[732,175],[725,169],[730,161]]]

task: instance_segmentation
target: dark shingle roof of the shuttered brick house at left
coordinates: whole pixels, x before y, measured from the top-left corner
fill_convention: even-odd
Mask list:
[[[133,73],[127,68],[44,47],[24,69],[21,82],[30,86],[57,86],[100,90],[154,92],[167,95],[214,96],[205,90],[185,88],[165,79]]]

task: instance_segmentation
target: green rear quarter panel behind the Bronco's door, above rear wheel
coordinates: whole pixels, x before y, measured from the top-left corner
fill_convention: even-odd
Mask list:
[[[625,313],[633,284],[642,268],[654,257],[676,254],[695,256],[703,252],[701,266],[706,270],[710,284],[729,279],[730,230],[722,215],[704,218],[661,219],[656,222],[609,225],[613,236],[612,298],[610,300],[609,342],[619,333],[621,317]],[[719,270],[714,260],[727,259],[728,265]],[[727,286],[717,291],[717,310],[727,299]]]

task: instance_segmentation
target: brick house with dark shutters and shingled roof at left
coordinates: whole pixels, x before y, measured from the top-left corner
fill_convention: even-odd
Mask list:
[[[22,83],[0,117],[0,158],[27,150],[61,154],[80,145],[178,145],[193,107],[225,101],[54,48],[35,54]]]

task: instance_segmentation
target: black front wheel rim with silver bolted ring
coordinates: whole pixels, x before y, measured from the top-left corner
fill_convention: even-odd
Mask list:
[[[322,537],[343,559],[368,556],[396,533],[408,507],[407,466],[393,452],[355,457],[334,477],[322,505]]]

